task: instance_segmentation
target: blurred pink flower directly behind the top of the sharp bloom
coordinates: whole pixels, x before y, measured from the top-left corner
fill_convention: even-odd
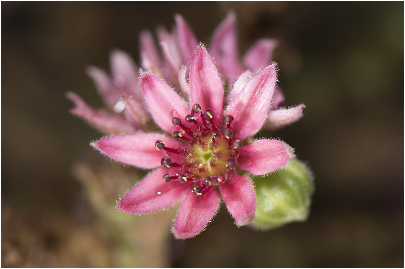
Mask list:
[[[176,26],[171,33],[163,28],[157,29],[161,54],[155,46],[150,32],[141,33],[142,67],[158,77],[165,79],[171,85],[180,86],[182,95],[187,96],[187,89],[182,87],[181,81],[187,72],[185,64],[190,54],[197,46],[197,39],[186,21],[175,16]],[[226,78],[226,84],[237,88],[235,95],[252,77],[252,72],[259,70],[272,59],[277,41],[263,38],[253,44],[243,57],[239,58],[236,14],[230,12],[214,31],[209,48],[215,58],[219,72]],[[246,70],[247,69],[247,70]],[[235,81],[237,78],[238,81]],[[232,85],[233,84],[233,85]],[[234,96],[228,96],[227,102]],[[276,130],[299,120],[303,115],[304,105],[283,108],[284,95],[281,90],[274,92],[273,102],[268,111],[268,120],[264,125],[269,130]]]

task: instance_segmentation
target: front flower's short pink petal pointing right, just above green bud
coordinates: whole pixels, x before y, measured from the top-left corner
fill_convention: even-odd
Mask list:
[[[279,140],[257,140],[242,147],[238,168],[253,175],[264,175],[286,165],[294,157],[294,149]]]

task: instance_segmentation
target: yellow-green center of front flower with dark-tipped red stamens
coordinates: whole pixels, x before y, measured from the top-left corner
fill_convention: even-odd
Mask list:
[[[200,120],[197,121],[197,119]],[[238,165],[239,150],[242,146],[239,140],[233,140],[231,123],[234,117],[228,115],[224,117],[224,128],[222,135],[218,131],[213,120],[213,111],[207,108],[202,112],[200,105],[195,104],[191,114],[184,119],[188,123],[195,125],[195,130],[188,128],[181,123],[180,118],[173,118],[172,123],[179,127],[179,131],[173,132],[173,138],[186,142],[184,148],[167,148],[162,140],[157,140],[155,146],[158,150],[166,152],[161,164],[164,167],[184,168],[182,174],[165,174],[163,180],[170,182],[178,180],[180,183],[191,182],[192,192],[201,195],[203,190],[209,186],[223,184],[228,171],[235,170]],[[169,154],[180,156],[180,162],[172,162]]]

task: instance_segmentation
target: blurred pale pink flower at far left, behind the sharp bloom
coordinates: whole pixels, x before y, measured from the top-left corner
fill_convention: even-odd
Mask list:
[[[76,105],[71,113],[81,116],[105,134],[146,130],[150,115],[138,89],[137,65],[128,54],[118,50],[111,53],[110,60],[111,77],[97,67],[87,68],[108,110],[92,108],[77,94],[69,92],[67,97]]]

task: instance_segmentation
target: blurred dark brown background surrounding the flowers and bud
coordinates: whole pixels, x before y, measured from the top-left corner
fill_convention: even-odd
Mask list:
[[[286,105],[280,137],[308,161],[307,222],[237,228],[223,205],[177,241],[176,209],[114,211],[144,171],[89,147],[67,91],[102,107],[84,70],[117,48],[139,63],[139,33],[181,14],[208,44],[229,10],[242,55],[276,38]],[[404,2],[1,2],[2,267],[404,267]]]

